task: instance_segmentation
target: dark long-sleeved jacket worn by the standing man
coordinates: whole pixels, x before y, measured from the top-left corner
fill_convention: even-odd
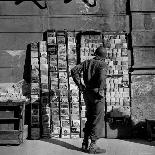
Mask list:
[[[95,57],[90,60],[85,60],[71,69],[73,80],[79,88],[82,85],[82,72],[86,89],[95,90],[97,92],[105,90],[107,65],[103,59]]]

